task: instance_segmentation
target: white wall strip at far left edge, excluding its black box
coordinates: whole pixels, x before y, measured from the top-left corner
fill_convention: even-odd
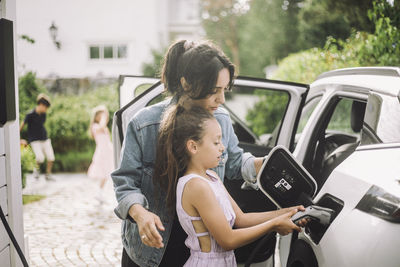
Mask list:
[[[15,10],[16,5],[14,0],[0,1],[0,18],[14,22],[14,58],[16,50]],[[16,99],[18,99],[16,75],[14,75],[13,78],[15,81],[15,96]],[[24,230],[22,218],[18,101],[16,101],[16,114],[17,119],[15,121],[7,122],[3,127],[0,127],[0,205],[3,212],[6,214],[8,223],[19,245],[23,249]],[[0,266],[22,266],[15,249],[10,245],[10,239],[2,223],[0,223]]]

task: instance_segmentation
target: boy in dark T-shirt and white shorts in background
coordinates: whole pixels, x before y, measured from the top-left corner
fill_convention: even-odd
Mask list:
[[[30,143],[33,153],[35,154],[37,168],[34,170],[34,176],[39,179],[40,164],[47,159],[46,175],[47,181],[53,181],[51,169],[54,162],[54,151],[51,146],[51,140],[47,138],[47,132],[44,128],[46,122],[46,112],[50,107],[50,98],[45,94],[39,94],[36,99],[36,107],[26,114],[24,121],[21,123],[19,130],[22,131],[25,124],[28,124],[28,142]],[[26,140],[22,139],[21,144],[26,145]]]

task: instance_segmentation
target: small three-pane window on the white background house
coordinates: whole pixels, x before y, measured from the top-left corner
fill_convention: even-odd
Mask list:
[[[126,45],[90,45],[89,46],[89,59],[125,59],[128,57],[128,48]]]

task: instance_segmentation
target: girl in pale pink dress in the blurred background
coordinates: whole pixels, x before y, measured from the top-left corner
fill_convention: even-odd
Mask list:
[[[90,178],[100,180],[100,195],[98,199],[101,203],[103,202],[102,192],[104,185],[114,170],[113,148],[107,123],[107,108],[103,105],[95,107],[90,121],[89,135],[96,142],[96,150],[94,151],[92,163],[89,166],[87,174]]]

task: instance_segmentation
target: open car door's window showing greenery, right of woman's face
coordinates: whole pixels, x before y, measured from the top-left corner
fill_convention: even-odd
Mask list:
[[[276,143],[288,102],[287,92],[264,88],[236,86],[225,95],[228,109],[245,124],[259,144],[270,147]]]

